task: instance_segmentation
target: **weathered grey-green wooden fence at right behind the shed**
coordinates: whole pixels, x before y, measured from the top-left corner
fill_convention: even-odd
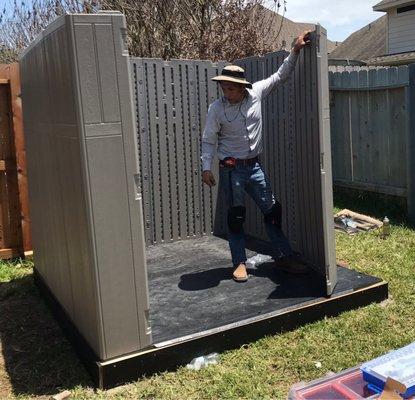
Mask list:
[[[415,65],[330,68],[336,185],[402,196],[415,222]]]

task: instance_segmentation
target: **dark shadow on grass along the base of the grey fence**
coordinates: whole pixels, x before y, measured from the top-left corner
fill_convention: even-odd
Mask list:
[[[406,200],[402,197],[360,190],[334,188],[334,206],[366,214],[381,221],[387,216],[393,224],[413,228],[407,219]]]

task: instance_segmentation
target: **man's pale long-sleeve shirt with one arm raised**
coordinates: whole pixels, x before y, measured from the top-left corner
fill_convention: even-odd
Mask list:
[[[222,97],[209,106],[202,136],[203,171],[211,169],[216,147],[220,160],[247,159],[262,152],[262,99],[288,79],[297,59],[298,55],[292,51],[277,72],[246,89],[241,102],[231,104]]]

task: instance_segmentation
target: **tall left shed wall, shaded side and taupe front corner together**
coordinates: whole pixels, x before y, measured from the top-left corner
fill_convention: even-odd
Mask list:
[[[64,16],[21,59],[36,268],[103,360],[151,343],[124,33]]]

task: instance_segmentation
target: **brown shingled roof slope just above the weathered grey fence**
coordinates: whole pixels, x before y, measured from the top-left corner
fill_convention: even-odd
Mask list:
[[[387,15],[352,33],[330,55],[330,59],[367,60],[386,53]]]

